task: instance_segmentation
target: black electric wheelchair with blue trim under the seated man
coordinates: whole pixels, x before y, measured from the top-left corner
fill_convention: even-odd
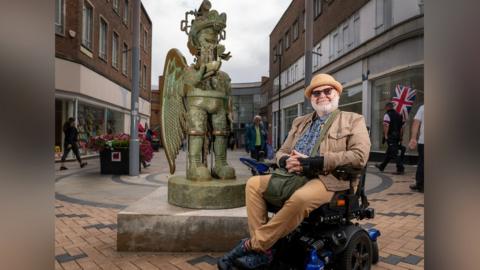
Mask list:
[[[337,168],[334,175],[349,181],[350,188],[337,192],[330,203],[312,211],[293,232],[277,241],[272,248],[272,263],[262,269],[368,270],[378,262],[380,231],[366,230],[354,222],[375,216],[365,194],[366,167],[362,170]],[[356,187],[355,179],[359,179]],[[267,207],[271,213],[280,210],[271,205]],[[317,268],[309,265],[312,256]]]

